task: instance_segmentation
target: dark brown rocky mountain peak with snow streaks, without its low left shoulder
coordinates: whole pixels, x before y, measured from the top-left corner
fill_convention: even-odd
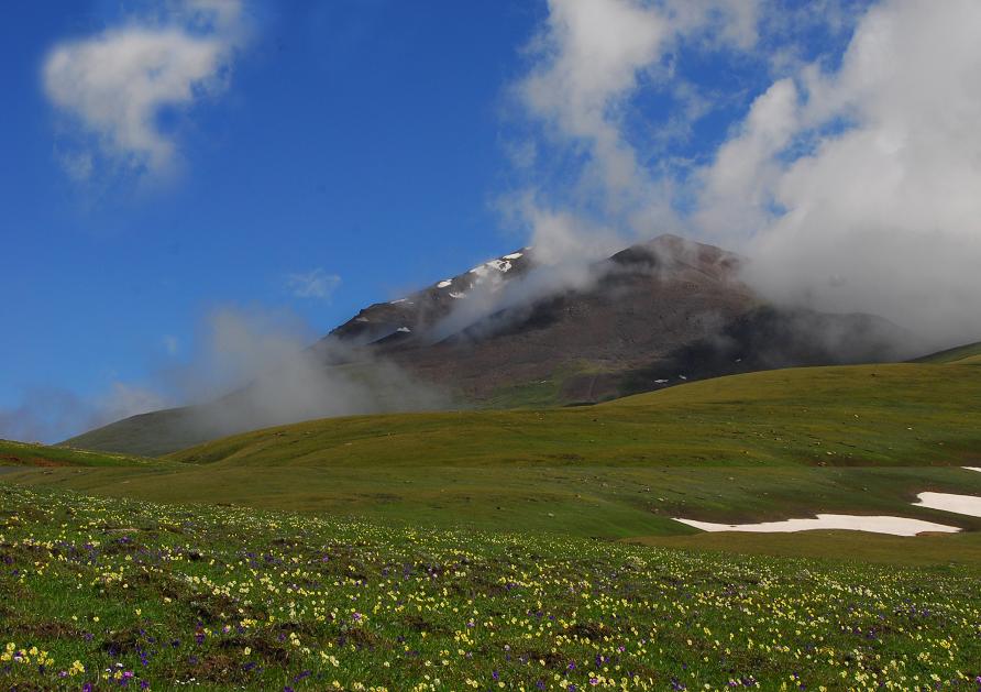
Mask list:
[[[882,319],[763,305],[739,279],[743,262],[661,235],[570,277],[523,249],[373,305],[318,345],[353,344],[353,360],[367,352],[492,405],[529,403],[536,389],[536,403],[592,403],[706,376],[897,356],[899,329]]]

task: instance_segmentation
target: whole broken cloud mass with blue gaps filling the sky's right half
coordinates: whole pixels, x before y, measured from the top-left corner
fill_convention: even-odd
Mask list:
[[[507,139],[536,156],[500,208],[572,262],[679,232],[750,255],[774,303],[979,339],[979,35],[972,0],[551,0]]]

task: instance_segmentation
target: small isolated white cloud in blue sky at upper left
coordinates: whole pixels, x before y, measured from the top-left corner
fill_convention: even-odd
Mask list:
[[[244,36],[238,0],[185,0],[163,20],[54,46],[42,77],[48,100],[77,125],[76,151],[60,156],[69,177],[90,177],[96,154],[125,171],[173,173],[177,142],[161,113],[219,91]]]

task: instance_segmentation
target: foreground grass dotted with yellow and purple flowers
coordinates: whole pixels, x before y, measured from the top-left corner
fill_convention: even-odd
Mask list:
[[[977,569],[0,488],[16,690],[974,690]]]

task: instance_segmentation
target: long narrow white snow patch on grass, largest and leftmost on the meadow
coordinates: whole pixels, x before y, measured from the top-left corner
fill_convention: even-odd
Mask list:
[[[710,521],[680,518],[675,518],[675,521],[681,521],[703,531],[750,531],[754,534],[790,534],[837,529],[890,534],[892,536],[916,536],[925,531],[955,534],[960,530],[955,526],[945,526],[922,519],[850,514],[819,514],[813,519],[786,519],[784,521],[762,521],[760,524],[713,524]]]

